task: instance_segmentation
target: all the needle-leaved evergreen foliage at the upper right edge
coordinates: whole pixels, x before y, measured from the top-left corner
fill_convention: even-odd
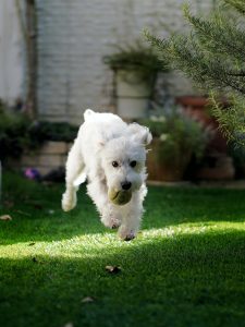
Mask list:
[[[192,14],[189,7],[185,5],[184,16],[191,25],[191,33],[160,39],[146,32],[146,37],[170,68],[182,71],[200,88],[212,93],[213,114],[223,132],[240,141],[245,129],[245,4],[242,0],[223,0],[220,3],[237,10],[240,15],[231,16],[220,7],[204,19]],[[213,93],[218,96],[215,97]],[[221,110],[220,94],[230,101],[225,110]]]

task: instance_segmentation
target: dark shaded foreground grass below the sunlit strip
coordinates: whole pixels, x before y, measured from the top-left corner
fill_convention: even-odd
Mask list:
[[[81,245],[76,257],[1,258],[2,326],[243,325],[244,231],[134,244],[87,257]]]

